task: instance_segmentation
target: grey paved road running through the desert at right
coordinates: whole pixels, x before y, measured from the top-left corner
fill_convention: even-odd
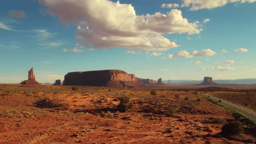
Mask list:
[[[208,97],[208,95],[209,95],[209,94],[207,94],[207,93],[206,93],[206,94],[203,94],[203,96],[205,96],[205,97]],[[212,99],[212,100],[214,100],[214,101],[217,101],[217,102],[218,102],[218,100],[219,100],[219,98],[212,97],[211,95],[210,95],[210,97],[208,97],[208,98],[209,98],[209,99]],[[233,110],[236,110],[236,111],[238,111],[238,112],[240,112],[240,113],[243,113],[244,115],[246,115],[246,116],[248,116],[249,118],[252,118],[254,121],[256,121],[256,112],[254,112],[254,111],[252,111],[252,110],[248,110],[248,109],[246,109],[246,108],[244,108],[244,107],[242,107],[242,106],[238,106],[238,105],[229,103],[228,101],[225,101],[225,100],[223,100],[223,99],[221,99],[221,100],[222,100],[222,102],[219,102],[219,103],[221,103],[221,104],[223,104],[223,105],[229,107],[230,109],[233,109]]]

